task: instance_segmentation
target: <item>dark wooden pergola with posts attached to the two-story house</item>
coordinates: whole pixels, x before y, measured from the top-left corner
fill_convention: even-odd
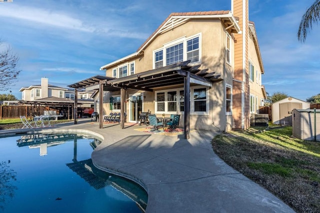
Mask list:
[[[102,100],[103,91],[120,90],[120,112],[121,128],[124,128],[124,104],[127,89],[143,90],[153,92],[155,89],[172,85],[183,85],[184,100],[190,100],[190,86],[204,85],[212,87],[216,81],[222,80],[215,72],[208,72],[208,69],[200,70],[200,65],[188,65],[190,60],[171,64],[168,66],[139,72],[133,75],[111,78],[94,76],[75,84],[69,85],[75,89],[82,89],[88,86],[99,84],[99,99]],[[75,104],[76,105],[76,104]],[[99,114],[102,115],[102,101],[99,102]],[[75,118],[76,119],[76,118]],[[75,121],[76,123],[76,121]],[[99,119],[99,128],[102,128],[103,119]],[[184,138],[189,139],[190,133],[190,102],[184,101]]]

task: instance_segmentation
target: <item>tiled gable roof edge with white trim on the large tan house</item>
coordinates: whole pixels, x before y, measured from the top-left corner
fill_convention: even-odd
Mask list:
[[[179,26],[190,19],[199,19],[199,18],[217,18],[222,21],[225,28],[228,28],[233,33],[240,32],[240,26],[233,16],[230,10],[215,10],[215,11],[198,11],[198,12],[172,12],[161,24],[158,28],[142,43],[142,45],[136,50],[136,52],[122,57],[116,61],[112,61],[104,66],[100,67],[100,70],[106,69],[107,67],[120,63],[125,60],[129,60],[137,55],[139,55],[143,49],[155,39],[155,37],[163,33],[167,30],[172,29],[173,27]]]

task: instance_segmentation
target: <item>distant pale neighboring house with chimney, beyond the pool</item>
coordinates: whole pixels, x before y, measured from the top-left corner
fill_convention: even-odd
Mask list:
[[[19,90],[22,101],[36,101],[44,98],[57,97],[74,100],[74,90],[48,84],[47,78],[41,78],[40,85],[22,87]],[[90,98],[93,91],[77,91],[78,103],[81,107],[93,107],[93,99]]]

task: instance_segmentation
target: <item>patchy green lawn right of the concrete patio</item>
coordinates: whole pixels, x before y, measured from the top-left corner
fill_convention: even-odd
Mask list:
[[[291,135],[292,127],[251,127],[215,137],[212,147],[228,165],[296,212],[319,212],[320,142]]]

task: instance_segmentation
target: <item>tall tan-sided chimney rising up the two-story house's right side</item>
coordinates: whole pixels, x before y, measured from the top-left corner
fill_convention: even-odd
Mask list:
[[[234,34],[233,128],[250,126],[250,91],[248,79],[248,0],[231,0],[231,11],[238,18],[241,34]],[[240,91],[240,92],[239,92]]]

